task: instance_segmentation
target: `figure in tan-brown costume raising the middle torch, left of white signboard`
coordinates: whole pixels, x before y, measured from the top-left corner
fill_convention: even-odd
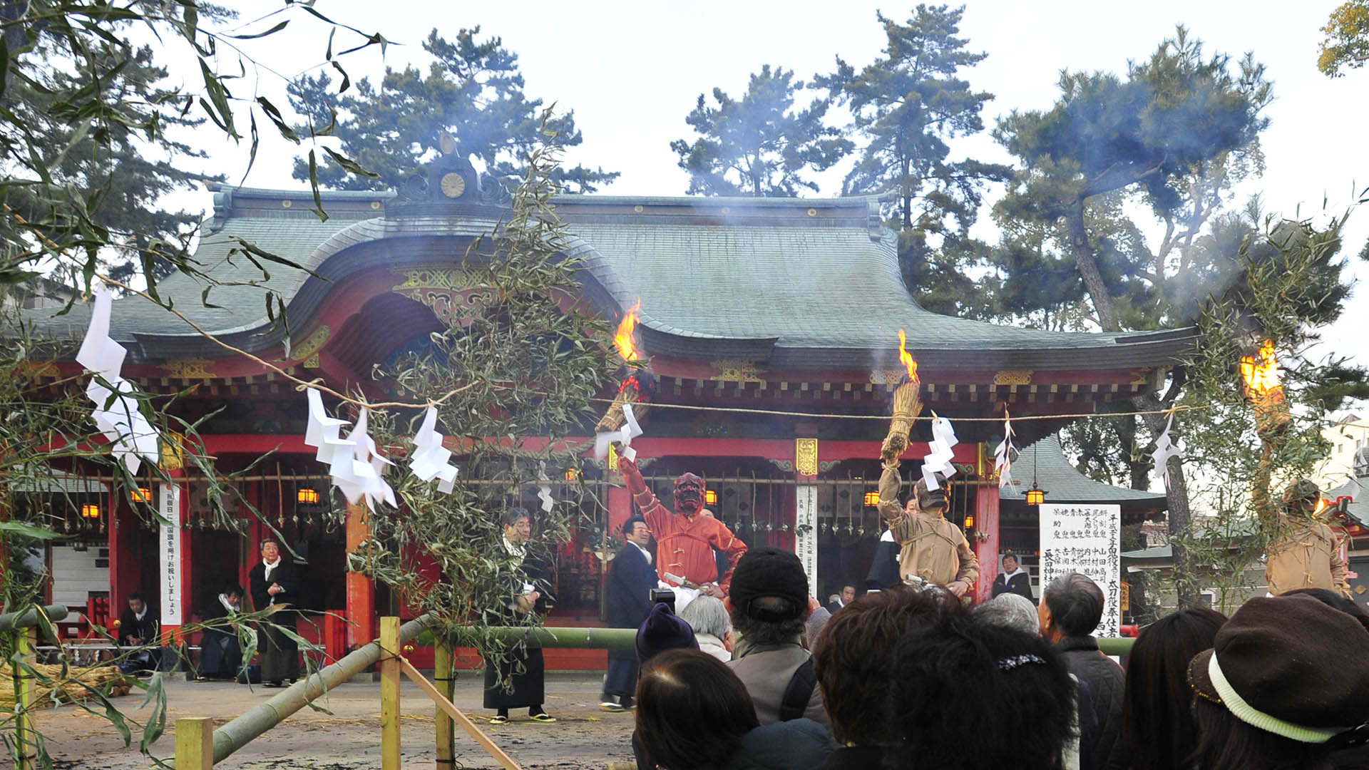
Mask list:
[[[898,456],[890,452],[883,460],[879,512],[899,545],[899,577],[943,585],[958,597],[971,595],[979,580],[979,559],[965,533],[946,521],[950,508],[946,477],[936,474],[936,489],[930,489],[925,478],[917,480],[908,506],[899,506],[898,490],[904,478],[898,474]]]

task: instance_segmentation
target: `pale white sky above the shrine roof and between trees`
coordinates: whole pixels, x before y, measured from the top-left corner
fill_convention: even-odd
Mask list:
[[[279,0],[229,3],[242,18],[279,7]],[[1142,59],[1175,25],[1186,25],[1206,42],[1238,59],[1253,51],[1275,82],[1276,101],[1268,108],[1270,127],[1262,134],[1268,170],[1244,185],[1240,199],[1261,193],[1269,212],[1288,216],[1340,214],[1369,186],[1365,126],[1369,126],[1369,70],[1329,79],[1316,69],[1318,27],[1339,0],[1307,3],[1233,1],[1006,1],[969,0],[961,36],[969,49],[988,58],[962,73],[975,89],[995,95],[984,110],[986,123],[1013,108],[1046,108],[1055,96],[1061,69],[1123,71],[1128,59]],[[381,32],[402,44],[389,49],[386,63],[424,60],[422,40],[433,27],[449,38],[460,27],[481,25],[504,38],[519,55],[527,95],[574,108],[585,144],[567,160],[622,171],[608,195],[683,195],[686,174],[676,166],[669,141],[693,134],[684,115],[701,92],[720,86],[739,96],[747,75],[763,64],[782,66],[810,79],[832,69],[834,55],[854,66],[873,59],[883,47],[876,8],[898,21],[912,4],[831,1],[695,3],[424,3],[386,4],[320,0],[316,5],[340,22]],[[381,11],[381,12],[376,12]],[[251,29],[261,29],[256,25]],[[283,74],[296,74],[322,60],[324,38],[303,15],[282,36],[251,48]],[[335,48],[346,41],[338,36]],[[235,66],[233,67],[235,69]],[[353,81],[378,75],[383,63],[372,49],[348,60]],[[193,81],[190,81],[193,82]],[[282,107],[279,85],[263,81]],[[270,129],[266,129],[270,130]],[[207,134],[207,132],[205,132]],[[208,148],[218,170],[241,174],[245,145]],[[956,145],[982,160],[1010,162],[986,136]],[[274,137],[263,140],[251,186],[300,188],[290,178],[292,149]],[[237,179],[238,177],[233,177]],[[839,174],[828,174],[819,195],[839,192]],[[208,195],[199,201],[208,207]],[[994,241],[987,207],[976,234]],[[1343,249],[1357,277],[1369,278],[1369,263],[1355,258],[1369,237],[1369,211],[1351,215]],[[1331,349],[1369,362],[1369,308],[1351,300],[1346,318],[1328,334]]]

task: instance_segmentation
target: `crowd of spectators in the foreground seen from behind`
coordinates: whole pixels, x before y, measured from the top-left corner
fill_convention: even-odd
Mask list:
[[[1039,606],[1012,585],[973,608],[936,585],[830,607],[809,588],[797,556],[753,548],[723,600],[649,610],[622,700],[639,769],[1369,767],[1369,617],[1329,591],[1180,610],[1123,669],[1082,574]]]

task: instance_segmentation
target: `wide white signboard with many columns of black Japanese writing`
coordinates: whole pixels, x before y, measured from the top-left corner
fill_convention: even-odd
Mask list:
[[[1094,636],[1121,625],[1121,506],[1040,506],[1040,585],[1082,573],[1103,589],[1103,618]]]

